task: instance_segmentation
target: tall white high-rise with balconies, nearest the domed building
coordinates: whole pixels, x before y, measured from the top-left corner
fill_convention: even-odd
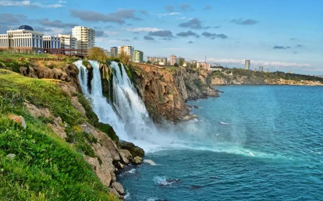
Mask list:
[[[88,50],[95,45],[94,29],[84,26],[75,26],[72,28],[72,36],[77,39],[77,49]]]

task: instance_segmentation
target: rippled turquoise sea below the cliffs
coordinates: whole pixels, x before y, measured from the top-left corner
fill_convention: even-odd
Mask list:
[[[216,88],[146,153],[155,166],[120,172],[125,200],[323,200],[323,87]]]

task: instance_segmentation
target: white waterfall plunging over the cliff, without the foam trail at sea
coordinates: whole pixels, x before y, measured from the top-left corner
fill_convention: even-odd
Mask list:
[[[87,84],[88,70],[83,66],[82,60],[74,64],[80,71],[78,79],[82,91],[93,100],[93,111],[97,114],[99,121],[110,124],[120,140],[133,142],[145,151],[156,150],[170,144],[172,138],[166,137],[167,133],[158,130],[150,119],[145,104],[127,75],[125,70],[127,67],[121,64],[120,68],[117,62],[111,62],[110,66],[115,70],[112,80],[113,103],[110,103],[113,104],[112,107],[102,94],[99,62],[89,62],[93,66],[91,90],[88,89]]]

